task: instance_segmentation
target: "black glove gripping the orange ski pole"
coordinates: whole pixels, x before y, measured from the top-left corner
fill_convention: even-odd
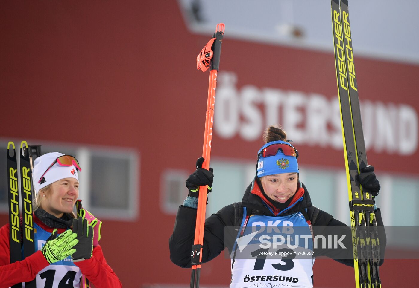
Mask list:
[[[209,168],[209,170],[201,168],[202,163],[204,163],[204,158],[199,157],[197,160],[197,170],[189,175],[188,179],[186,180],[186,187],[189,189],[189,196],[198,198],[199,186],[208,185],[207,194],[211,192],[214,170],[212,168]]]

